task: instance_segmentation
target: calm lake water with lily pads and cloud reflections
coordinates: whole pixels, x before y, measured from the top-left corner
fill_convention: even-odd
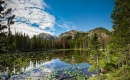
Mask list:
[[[87,80],[87,60],[80,50],[0,54],[0,80]]]

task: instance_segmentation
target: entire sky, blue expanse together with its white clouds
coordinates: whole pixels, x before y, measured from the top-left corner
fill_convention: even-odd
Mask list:
[[[6,4],[16,15],[12,33],[58,36],[69,30],[112,29],[114,0],[8,0]]]

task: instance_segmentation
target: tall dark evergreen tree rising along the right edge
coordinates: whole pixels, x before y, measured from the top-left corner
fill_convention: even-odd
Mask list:
[[[122,67],[130,55],[130,0],[116,0],[111,15],[113,19],[113,35],[111,43],[114,53],[117,55],[117,66]]]

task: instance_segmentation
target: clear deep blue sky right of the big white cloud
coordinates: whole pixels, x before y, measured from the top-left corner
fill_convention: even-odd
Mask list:
[[[80,31],[89,31],[96,27],[111,30],[111,12],[114,0],[44,0],[49,6],[49,13],[55,15],[56,21],[71,22]],[[71,26],[70,26],[71,27]],[[67,31],[55,25],[55,34]]]

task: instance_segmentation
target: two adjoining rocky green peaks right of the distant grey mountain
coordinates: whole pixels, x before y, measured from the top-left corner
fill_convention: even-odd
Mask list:
[[[98,27],[88,32],[71,30],[59,35],[59,38],[67,38],[67,39],[78,39],[84,37],[91,37],[94,33],[98,35],[99,38],[107,38],[110,36],[111,32],[103,27]]]

